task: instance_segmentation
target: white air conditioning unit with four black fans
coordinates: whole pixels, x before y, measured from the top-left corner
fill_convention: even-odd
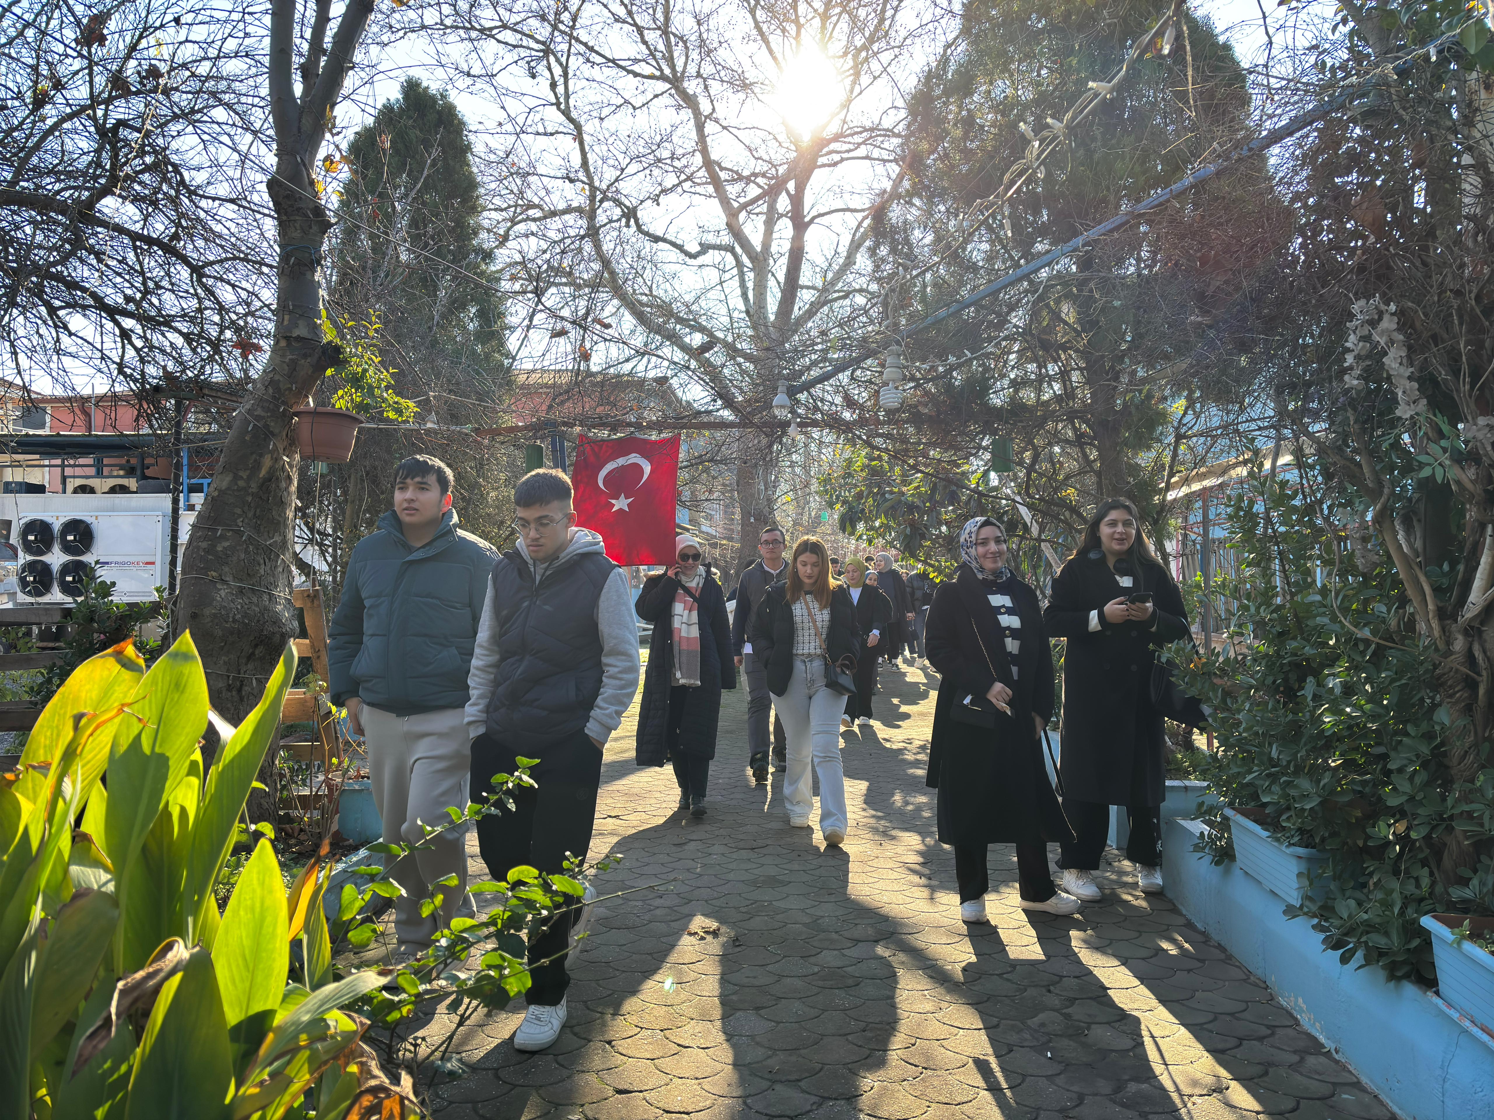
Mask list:
[[[69,603],[82,597],[88,578],[111,581],[117,600],[154,600],[155,587],[166,582],[170,496],[127,502],[158,508],[123,512],[125,502],[109,496],[3,496],[0,512],[12,518],[19,551],[16,602]]]

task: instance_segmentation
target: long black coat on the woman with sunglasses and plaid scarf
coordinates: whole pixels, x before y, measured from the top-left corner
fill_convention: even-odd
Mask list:
[[[648,639],[648,668],[644,671],[644,697],[638,706],[635,757],[639,766],[663,766],[669,727],[669,690],[674,687],[674,593],[680,581],[656,572],[644,581],[633,609],[653,623]],[[732,660],[732,626],[726,618],[726,597],[710,570],[696,593],[701,605],[701,682],[684,693],[684,718],[680,721],[680,750],[704,759],[716,757],[716,726],[722,717],[722,688],[737,687],[737,662]]]

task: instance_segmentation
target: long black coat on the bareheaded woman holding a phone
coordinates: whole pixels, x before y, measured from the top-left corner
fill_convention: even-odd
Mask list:
[[[1064,796],[1074,800],[1143,808],[1167,793],[1152,662],[1158,647],[1188,636],[1188,612],[1165,567],[1137,567],[1132,587],[1122,587],[1098,548],[1076,556],[1053,578],[1043,615],[1052,636],[1068,639],[1059,766]],[[1153,621],[1106,621],[1106,603],[1132,591],[1152,593]],[[1089,629],[1092,611],[1098,630]]]

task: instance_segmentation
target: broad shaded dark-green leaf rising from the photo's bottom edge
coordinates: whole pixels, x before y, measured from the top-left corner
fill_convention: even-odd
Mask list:
[[[212,957],[196,948],[161,986],[130,1077],[125,1120],[227,1120],[233,1096],[229,1024]]]

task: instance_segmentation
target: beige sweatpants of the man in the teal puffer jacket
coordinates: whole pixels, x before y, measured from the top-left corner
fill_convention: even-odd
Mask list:
[[[420,715],[391,715],[363,705],[369,778],[385,844],[415,844],[423,835],[421,821],[426,826],[448,823],[447,806],[466,809],[472,744],[465,714],[462,708],[442,708]],[[466,889],[466,826],[432,836],[427,845],[400,859],[390,872],[390,878],[405,889],[405,895],[394,899],[394,936],[402,950],[423,950],[451,918],[477,912]],[[435,893],[442,896],[441,909],[423,918],[420,903],[432,896],[429,884],[453,872],[460,886],[436,887]]]

